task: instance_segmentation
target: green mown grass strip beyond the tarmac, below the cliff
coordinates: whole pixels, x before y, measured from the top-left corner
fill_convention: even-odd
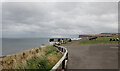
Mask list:
[[[89,40],[89,39],[85,39],[85,40],[81,40],[79,42],[77,42],[77,44],[112,44],[112,43],[118,43],[118,41],[109,41],[110,39],[113,38],[117,38],[117,36],[114,37],[98,37],[97,39],[94,40]]]

